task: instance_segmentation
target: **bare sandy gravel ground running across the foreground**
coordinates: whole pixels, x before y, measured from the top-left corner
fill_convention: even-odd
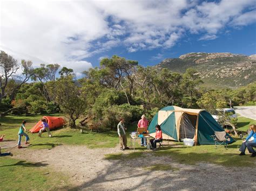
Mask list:
[[[133,151],[125,151],[133,152]],[[48,164],[67,174],[73,189],[242,189],[256,190],[253,168],[227,168],[213,164],[183,165],[167,157],[132,160],[106,160],[105,154],[120,153],[118,148],[89,149],[85,146],[57,146],[51,150],[19,150],[15,158]],[[171,165],[173,170],[149,171],[145,166]]]

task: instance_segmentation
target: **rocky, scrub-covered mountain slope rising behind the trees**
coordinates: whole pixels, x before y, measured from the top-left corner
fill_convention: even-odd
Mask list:
[[[245,56],[231,53],[188,53],[179,58],[161,61],[157,68],[168,68],[184,73],[195,68],[205,87],[235,88],[256,81],[256,55]]]

